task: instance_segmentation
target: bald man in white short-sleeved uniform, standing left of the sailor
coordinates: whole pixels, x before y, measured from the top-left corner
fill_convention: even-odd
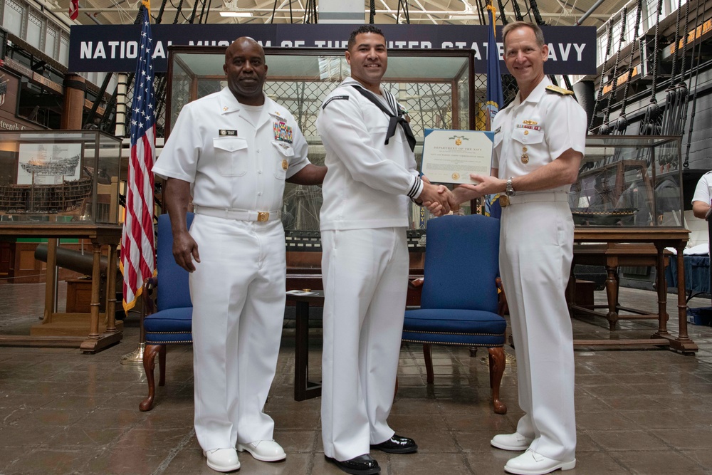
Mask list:
[[[168,181],[176,262],[190,272],[195,433],[216,471],[236,453],[285,458],[263,412],[277,363],[286,261],[280,209],[285,181],[319,184],[292,115],[262,92],[262,47],[227,48],[228,86],[185,105],[153,171]],[[189,195],[195,216],[186,227]]]

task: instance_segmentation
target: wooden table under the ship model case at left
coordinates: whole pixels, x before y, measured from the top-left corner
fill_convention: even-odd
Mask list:
[[[79,223],[16,223],[1,222],[0,234],[13,237],[50,238],[47,251],[47,281],[45,288],[45,309],[42,325],[48,331],[45,335],[0,335],[0,344],[78,347],[83,353],[96,353],[103,348],[118,343],[122,337],[121,328],[115,320],[116,295],[116,248],[121,241],[122,227],[117,224]],[[93,249],[91,312],[88,335],[67,335],[66,328],[76,328],[83,320],[82,313],[54,313],[56,238],[89,239]],[[109,246],[109,271],[106,273],[106,325],[100,333],[100,259],[102,246]],[[85,325],[85,324],[84,324]],[[103,325],[102,325],[103,326]],[[119,325],[120,327],[120,325]]]

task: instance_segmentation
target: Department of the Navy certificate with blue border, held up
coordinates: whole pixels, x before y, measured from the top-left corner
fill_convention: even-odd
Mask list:
[[[433,183],[475,183],[471,173],[488,175],[494,132],[426,129],[422,172]]]

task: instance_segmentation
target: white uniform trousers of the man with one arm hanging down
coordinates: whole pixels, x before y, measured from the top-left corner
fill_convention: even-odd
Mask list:
[[[200,256],[189,278],[198,442],[212,450],[271,440],[263,408],[284,318],[282,224],[196,214],[190,234]]]

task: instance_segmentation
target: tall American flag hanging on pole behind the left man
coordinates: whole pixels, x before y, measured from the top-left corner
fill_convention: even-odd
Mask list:
[[[124,310],[136,304],[143,283],[155,273],[153,233],[153,173],[156,124],[153,108],[153,51],[149,10],[141,6],[141,46],[131,105],[131,157],[126,192],[126,217],[121,239]]]

